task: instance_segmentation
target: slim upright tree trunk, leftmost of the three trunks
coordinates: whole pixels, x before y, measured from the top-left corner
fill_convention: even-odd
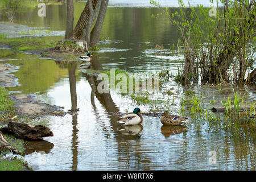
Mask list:
[[[74,3],[73,0],[67,0],[67,23],[65,39],[69,39],[73,35],[73,24],[74,24]]]

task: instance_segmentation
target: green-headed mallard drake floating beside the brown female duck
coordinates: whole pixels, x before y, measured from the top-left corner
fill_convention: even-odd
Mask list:
[[[133,113],[128,113],[127,115],[124,115],[122,118],[118,119],[117,122],[122,124],[123,126],[138,125],[143,121],[141,114],[138,114],[139,112],[141,112],[141,110],[136,107],[133,110]]]

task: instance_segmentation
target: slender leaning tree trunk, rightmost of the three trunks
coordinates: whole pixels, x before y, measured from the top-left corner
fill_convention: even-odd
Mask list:
[[[101,7],[98,13],[98,18],[96,20],[96,24],[94,25],[94,28],[90,36],[90,47],[96,46],[98,39],[100,39],[100,32],[105,19],[106,11],[108,9],[108,3],[109,0],[101,1]]]

